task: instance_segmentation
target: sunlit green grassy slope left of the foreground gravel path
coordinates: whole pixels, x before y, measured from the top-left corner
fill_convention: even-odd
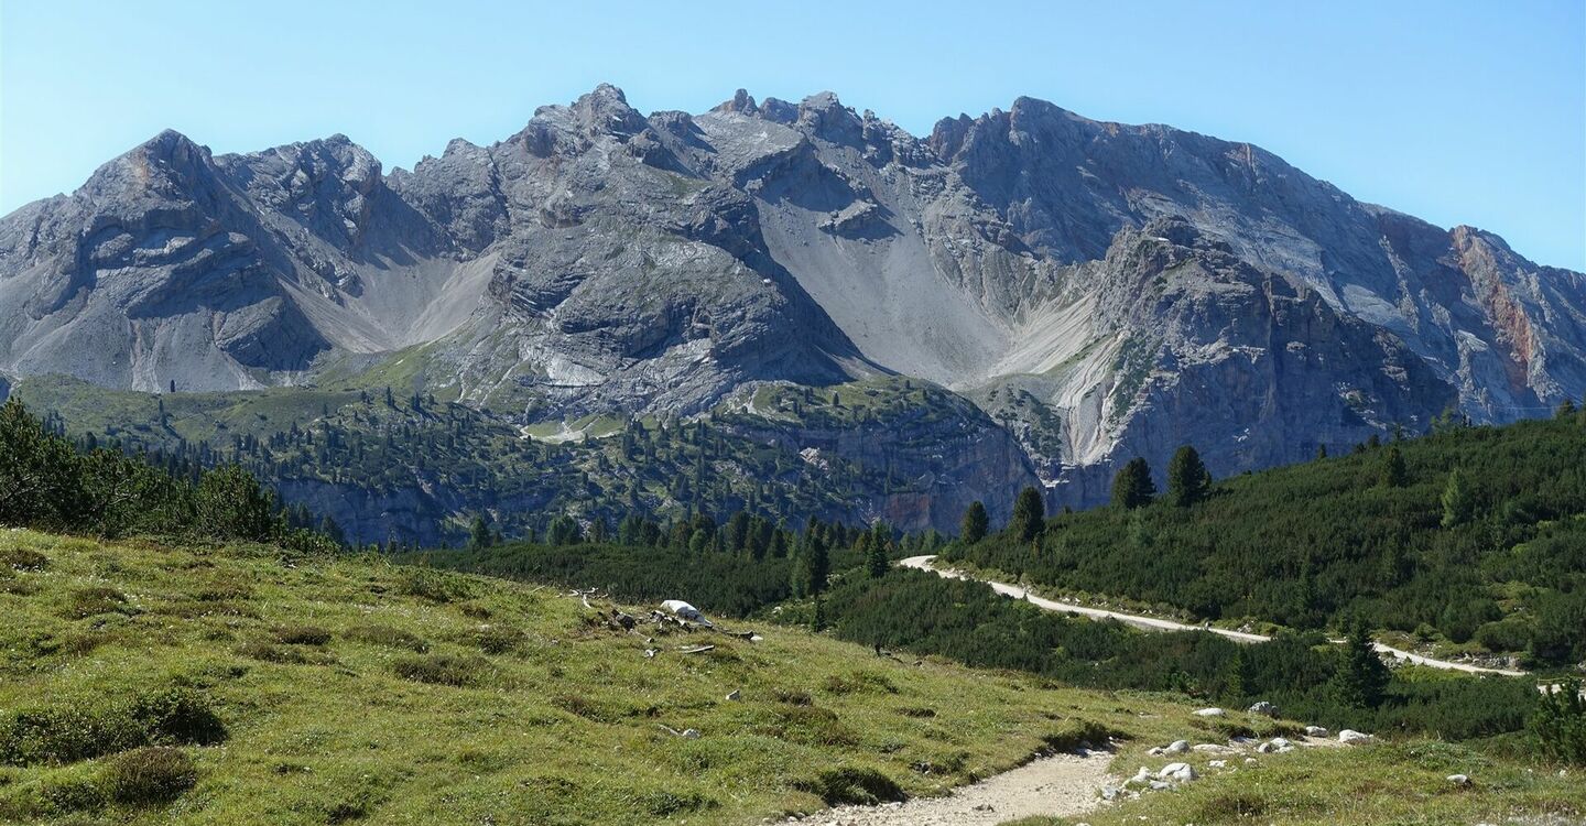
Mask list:
[[[1147,699],[788,628],[646,642],[609,604],[381,560],[22,530],[0,560],[17,823],[758,823],[1167,734]]]

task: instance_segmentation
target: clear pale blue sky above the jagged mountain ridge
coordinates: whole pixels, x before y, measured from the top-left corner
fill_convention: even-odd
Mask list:
[[[646,113],[831,89],[914,133],[1031,95],[1586,270],[1583,0],[0,0],[0,212],[165,127],[216,152],[341,132],[411,168],[601,81]]]

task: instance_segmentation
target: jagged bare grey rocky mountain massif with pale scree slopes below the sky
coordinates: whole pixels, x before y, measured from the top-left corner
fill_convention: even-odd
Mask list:
[[[249,388],[416,344],[427,382],[523,422],[936,382],[983,423],[866,460],[961,485],[874,503],[945,528],[1036,479],[1096,503],[1185,442],[1228,474],[1448,407],[1540,414],[1586,392],[1586,276],[1250,144],[1031,98],[921,140],[829,92],[646,117],[601,86],[392,173],[339,135],[213,157],[167,132],[0,219],[14,376]],[[777,431],[806,436],[879,449]]]

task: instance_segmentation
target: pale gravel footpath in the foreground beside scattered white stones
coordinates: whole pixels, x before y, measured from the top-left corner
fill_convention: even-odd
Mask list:
[[[804,826],[994,826],[1032,815],[1066,816],[1101,804],[1112,755],[1053,755],[1002,772],[947,797],[890,805],[844,805],[804,818]],[[1113,780],[1115,782],[1115,780]]]

